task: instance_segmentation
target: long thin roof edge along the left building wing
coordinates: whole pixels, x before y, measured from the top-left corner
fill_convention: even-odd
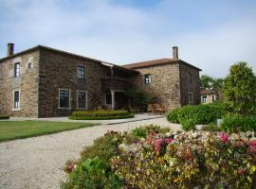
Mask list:
[[[96,59],[84,57],[82,55],[77,55],[77,54],[74,54],[74,53],[69,53],[69,52],[66,52],[64,50],[59,50],[59,49],[51,48],[51,47],[44,46],[44,45],[37,45],[37,46],[34,46],[32,48],[28,48],[27,50],[15,53],[15,54],[13,54],[11,56],[2,58],[2,59],[0,59],[0,63],[3,62],[4,60],[9,60],[9,59],[12,59],[12,58],[15,58],[15,57],[27,54],[29,52],[40,50],[40,49],[45,49],[45,50],[49,50],[49,51],[52,51],[52,52],[62,53],[64,55],[69,55],[69,56],[77,57],[77,58],[84,59],[84,60],[92,60],[92,61],[101,63],[101,65],[103,65],[103,66],[110,66],[110,65],[112,65],[114,68],[117,68],[117,69],[120,69],[120,70],[123,70],[123,71],[127,71],[127,72],[133,73],[133,74],[138,74],[138,72],[136,70],[132,70],[132,69],[129,69],[129,68],[124,68],[122,66],[119,66],[119,65],[116,65],[116,64],[113,64],[113,63],[109,63],[109,62],[102,61],[102,60],[96,60]]]

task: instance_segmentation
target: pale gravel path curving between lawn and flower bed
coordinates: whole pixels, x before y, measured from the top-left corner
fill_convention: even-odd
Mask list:
[[[60,181],[65,179],[64,163],[79,158],[83,146],[92,145],[108,129],[123,131],[147,124],[180,129],[163,117],[0,143],[0,188],[59,188]]]

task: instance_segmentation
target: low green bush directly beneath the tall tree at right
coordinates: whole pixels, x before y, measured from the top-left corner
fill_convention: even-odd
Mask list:
[[[256,116],[243,116],[239,114],[227,114],[223,118],[221,129],[227,132],[256,131]]]

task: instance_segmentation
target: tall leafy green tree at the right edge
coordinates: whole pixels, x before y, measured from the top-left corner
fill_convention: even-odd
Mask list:
[[[225,101],[233,112],[243,115],[256,112],[256,77],[247,62],[240,61],[229,69],[224,84]]]

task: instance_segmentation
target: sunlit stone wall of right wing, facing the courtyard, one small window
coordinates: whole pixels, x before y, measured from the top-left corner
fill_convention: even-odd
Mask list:
[[[137,68],[140,75],[135,77],[133,85],[153,96],[153,102],[166,104],[168,110],[180,107],[179,64],[163,64]],[[151,74],[152,83],[144,83],[144,75]]]

